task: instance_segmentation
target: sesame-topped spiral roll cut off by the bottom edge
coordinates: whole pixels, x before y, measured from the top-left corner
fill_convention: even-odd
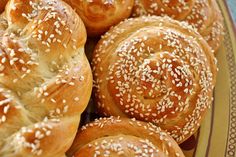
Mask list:
[[[74,157],[184,157],[159,127],[135,119],[100,118],[82,127],[68,151]]]

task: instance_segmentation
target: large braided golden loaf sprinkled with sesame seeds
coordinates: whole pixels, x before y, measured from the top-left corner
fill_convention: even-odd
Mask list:
[[[92,88],[83,22],[61,0],[10,0],[1,20],[0,156],[64,157]]]

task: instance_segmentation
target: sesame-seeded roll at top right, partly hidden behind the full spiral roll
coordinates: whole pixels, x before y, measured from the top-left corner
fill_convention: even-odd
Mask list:
[[[135,0],[133,16],[170,16],[186,21],[218,50],[224,34],[223,17],[215,0]]]

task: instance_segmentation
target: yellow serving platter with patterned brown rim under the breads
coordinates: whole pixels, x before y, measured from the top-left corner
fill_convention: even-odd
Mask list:
[[[219,71],[214,101],[196,134],[180,145],[186,157],[236,156],[236,30],[226,2],[218,3],[224,16],[225,36],[216,54]],[[89,60],[96,41],[88,40]],[[91,100],[81,125],[97,117]]]

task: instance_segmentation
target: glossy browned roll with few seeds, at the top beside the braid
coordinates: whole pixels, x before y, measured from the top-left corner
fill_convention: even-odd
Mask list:
[[[82,18],[89,36],[98,36],[128,18],[134,0],[64,0]]]

